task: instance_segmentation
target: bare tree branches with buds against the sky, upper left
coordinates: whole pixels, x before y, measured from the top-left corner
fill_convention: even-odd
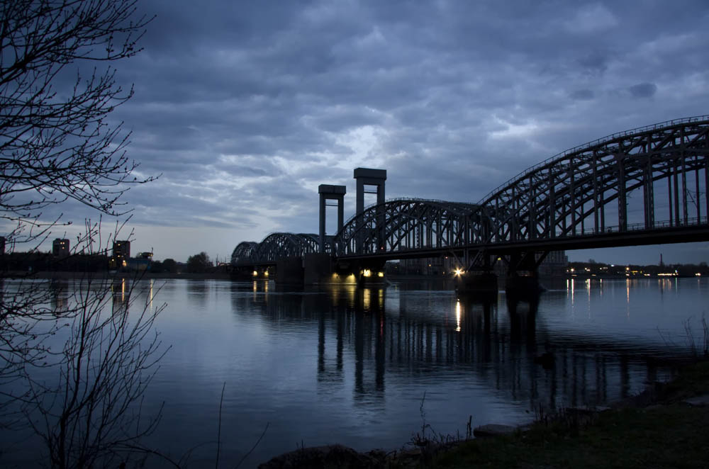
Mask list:
[[[107,123],[133,95],[106,62],[139,52],[149,18],[136,16],[136,1],[0,4],[0,219],[13,227],[9,246],[43,242],[60,222],[43,220],[49,205],[72,199],[118,215],[130,183],[151,180],[133,176],[130,134]]]

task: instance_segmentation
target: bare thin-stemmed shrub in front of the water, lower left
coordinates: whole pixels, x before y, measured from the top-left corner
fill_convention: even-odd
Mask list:
[[[59,379],[27,373],[23,413],[52,468],[117,467],[160,419],[160,412],[141,415],[140,402],[167,351],[152,327],[164,305],[154,307],[150,297],[141,303],[135,285],[125,278],[82,281],[69,299],[77,315],[63,321]]]

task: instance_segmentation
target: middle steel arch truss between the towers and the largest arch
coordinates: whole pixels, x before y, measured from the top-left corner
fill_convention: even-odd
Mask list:
[[[394,199],[347,220],[335,235],[337,256],[442,249],[478,242],[478,206],[442,200]]]

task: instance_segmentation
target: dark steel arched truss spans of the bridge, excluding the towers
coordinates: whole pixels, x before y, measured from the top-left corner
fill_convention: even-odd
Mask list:
[[[518,174],[479,203],[400,198],[371,205],[347,220],[328,252],[337,259],[452,253],[471,265],[485,252],[708,240],[708,188],[705,115],[566,150]],[[316,239],[274,233],[257,246],[240,244],[233,261],[318,252]]]

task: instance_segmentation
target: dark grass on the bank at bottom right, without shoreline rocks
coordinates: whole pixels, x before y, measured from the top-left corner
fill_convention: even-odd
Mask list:
[[[435,468],[709,468],[709,407],[682,401],[709,394],[709,361],[657,388],[647,407],[567,414],[530,431],[461,443],[437,456]]]

